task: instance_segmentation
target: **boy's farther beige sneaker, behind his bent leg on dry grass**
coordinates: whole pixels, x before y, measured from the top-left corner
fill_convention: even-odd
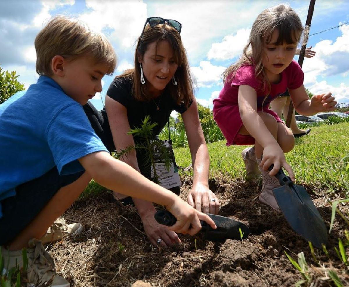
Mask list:
[[[66,224],[65,220],[58,218],[53,224],[47,229],[46,234],[40,238],[43,245],[50,244],[58,240],[62,240],[64,237],[75,237],[79,235],[83,230],[80,223]]]

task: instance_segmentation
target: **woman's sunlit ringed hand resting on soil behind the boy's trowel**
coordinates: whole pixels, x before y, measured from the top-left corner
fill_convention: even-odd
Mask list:
[[[196,210],[203,213],[217,214],[220,209],[220,203],[216,195],[207,185],[196,184],[188,194],[188,203]]]

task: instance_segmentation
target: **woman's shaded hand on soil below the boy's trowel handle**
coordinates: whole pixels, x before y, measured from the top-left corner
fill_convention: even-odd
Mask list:
[[[168,229],[167,226],[157,223],[154,218],[156,210],[149,211],[141,216],[143,228],[146,232],[150,242],[154,246],[168,247],[175,243],[181,243],[178,235]],[[158,241],[160,240],[160,243]]]

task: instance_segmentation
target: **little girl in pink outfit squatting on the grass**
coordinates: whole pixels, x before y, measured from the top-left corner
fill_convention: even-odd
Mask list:
[[[295,180],[284,156],[293,149],[295,139],[269,109],[270,102],[289,89],[295,109],[302,115],[332,111],[336,104],[331,93],[310,100],[305,91],[303,71],[293,61],[303,32],[299,16],[289,6],[280,4],[263,10],[252,25],[242,57],[224,71],[224,87],[213,101],[214,119],[227,145],[254,145],[242,152],[246,175],[261,172],[259,200],[276,211],[280,209],[273,188],[280,183],[275,174],[282,166]],[[272,164],[274,168],[268,172]]]

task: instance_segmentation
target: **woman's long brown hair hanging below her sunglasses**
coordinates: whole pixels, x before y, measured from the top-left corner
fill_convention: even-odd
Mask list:
[[[147,51],[149,44],[156,42],[155,51],[157,51],[157,45],[160,41],[168,41],[173,49],[173,57],[176,61],[178,68],[174,73],[177,86],[170,81],[166,86],[166,91],[171,97],[180,104],[184,102],[185,106],[188,106],[193,99],[193,80],[190,73],[190,67],[186,55],[186,50],[182,44],[180,35],[176,29],[166,24],[158,24],[154,27],[146,25],[142,38],[138,38],[136,42],[136,50],[134,53],[134,68],[126,70],[123,74],[116,76],[129,77],[133,80],[132,94],[139,101],[149,101],[150,95],[147,93],[147,81],[144,85],[141,84],[141,71],[138,62],[138,56],[143,57]]]

